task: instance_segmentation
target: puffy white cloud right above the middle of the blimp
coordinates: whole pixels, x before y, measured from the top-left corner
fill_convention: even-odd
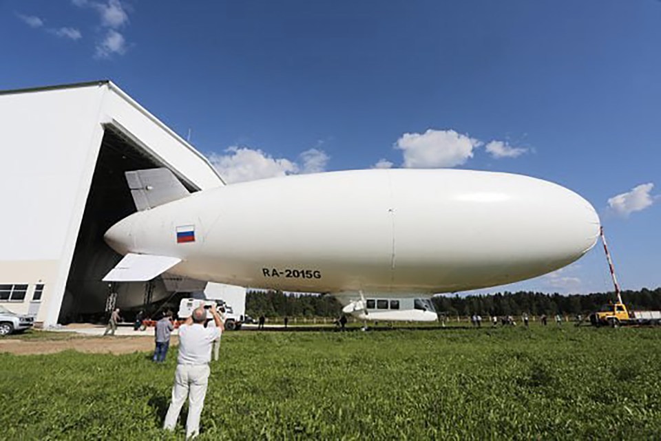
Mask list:
[[[403,166],[428,169],[461,165],[481,145],[479,140],[454,130],[428,129],[425,133],[404,133],[395,147],[403,151]]]

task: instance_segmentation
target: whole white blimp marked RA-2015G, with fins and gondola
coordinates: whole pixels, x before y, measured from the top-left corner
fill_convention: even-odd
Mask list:
[[[344,312],[381,312],[383,320],[437,315],[427,303],[406,308],[412,318],[389,301],[368,308],[368,300],[425,299],[543,275],[584,255],[600,228],[583,197],[508,173],[338,171],[192,194],[166,169],[127,172],[127,180],[140,211],[105,233],[125,257],[104,280],[167,271],[325,292]]]

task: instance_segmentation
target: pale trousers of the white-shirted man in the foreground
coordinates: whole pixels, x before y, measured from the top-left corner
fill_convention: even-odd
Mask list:
[[[181,407],[188,397],[186,438],[198,435],[204,396],[207,395],[209,372],[209,365],[177,365],[172,388],[172,401],[167,409],[163,429],[174,430]]]

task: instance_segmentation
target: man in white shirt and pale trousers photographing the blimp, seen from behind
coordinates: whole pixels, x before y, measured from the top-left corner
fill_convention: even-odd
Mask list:
[[[179,356],[174,374],[172,401],[167,409],[163,428],[174,430],[181,407],[188,396],[186,438],[194,438],[200,431],[200,414],[209,383],[211,345],[224,331],[216,305],[211,306],[210,312],[216,327],[204,327],[207,321],[207,309],[203,306],[193,310],[191,316],[179,327]]]

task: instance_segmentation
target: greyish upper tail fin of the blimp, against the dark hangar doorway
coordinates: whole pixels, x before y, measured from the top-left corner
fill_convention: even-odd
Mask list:
[[[145,169],[124,173],[138,211],[149,210],[190,195],[168,169]]]

